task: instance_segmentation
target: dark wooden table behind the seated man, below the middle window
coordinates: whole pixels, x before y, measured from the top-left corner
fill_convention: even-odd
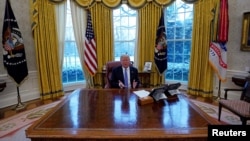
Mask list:
[[[141,81],[142,87],[143,88],[149,88],[150,87],[150,75],[153,72],[138,72],[138,77]],[[103,88],[105,87],[106,84],[106,71],[102,71],[102,84]]]

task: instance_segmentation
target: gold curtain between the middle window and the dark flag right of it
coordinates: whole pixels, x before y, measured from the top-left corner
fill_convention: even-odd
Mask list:
[[[153,62],[151,73],[151,86],[164,84],[164,76],[160,76],[154,64],[154,48],[156,31],[158,28],[162,7],[154,3],[148,3],[138,10],[138,69],[143,70],[145,62]]]

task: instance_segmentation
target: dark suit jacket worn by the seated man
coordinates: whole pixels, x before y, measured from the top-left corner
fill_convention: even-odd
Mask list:
[[[133,87],[133,81],[135,80],[137,82],[136,88],[139,87],[140,85],[140,80],[138,77],[138,70],[137,68],[130,66],[129,67],[129,72],[130,72],[130,84],[131,88]],[[123,77],[123,70],[122,66],[118,66],[112,70],[112,75],[111,75],[111,87],[112,88],[120,88],[119,87],[119,80],[122,81],[124,84],[124,77]]]

